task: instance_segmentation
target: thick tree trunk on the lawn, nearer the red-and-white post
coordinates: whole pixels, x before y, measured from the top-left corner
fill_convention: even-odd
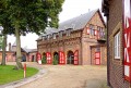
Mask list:
[[[16,68],[23,68],[22,65],[22,54],[21,54],[21,40],[20,40],[20,29],[19,26],[15,25],[15,37],[16,37]]]

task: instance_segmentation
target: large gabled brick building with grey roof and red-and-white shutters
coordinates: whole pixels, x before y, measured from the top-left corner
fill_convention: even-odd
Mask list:
[[[90,11],[47,28],[37,39],[37,49],[51,64],[106,64],[105,22],[99,10]]]

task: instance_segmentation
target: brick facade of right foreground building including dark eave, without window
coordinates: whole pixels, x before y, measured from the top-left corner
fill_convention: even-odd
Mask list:
[[[123,0],[103,0],[103,12],[107,16],[107,73],[108,85],[112,88],[130,88],[124,79],[122,11]],[[120,33],[120,59],[115,59],[115,35]]]

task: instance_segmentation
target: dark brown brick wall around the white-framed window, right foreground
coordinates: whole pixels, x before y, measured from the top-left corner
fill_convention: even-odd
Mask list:
[[[129,88],[130,84],[123,78],[123,49],[122,49],[122,0],[109,1],[109,20],[108,20],[108,39],[109,39],[109,83],[114,88]],[[114,36],[120,32],[120,60],[115,59]]]

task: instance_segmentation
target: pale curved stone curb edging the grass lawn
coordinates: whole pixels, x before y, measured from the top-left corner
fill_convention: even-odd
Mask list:
[[[28,84],[31,81],[34,81],[34,80],[40,78],[46,72],[47,72],[46,70],[41,68],[41,70],[39,70],[39,72],[36,75],[34,75],[32,77],[24,78],[24,79],[21,79],[21,80],[17,80],[17,81],[13,81],[13,83],[10,83],[10,84],[7,84],[7,85],[2,85],[2,86],[0,86],[0,88],[16,88],[16,87],[20,87],[22,85]]]

